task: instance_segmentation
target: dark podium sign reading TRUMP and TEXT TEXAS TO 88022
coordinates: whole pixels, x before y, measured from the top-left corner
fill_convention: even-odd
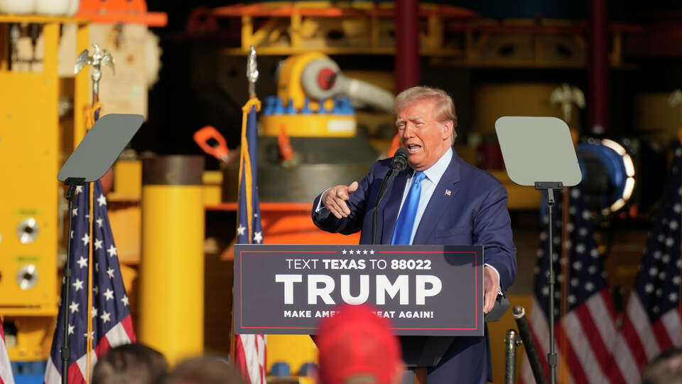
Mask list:
[[[483,247],[234,245],[234,332],[317,334],[367,303],[403,336],[483,336]]]

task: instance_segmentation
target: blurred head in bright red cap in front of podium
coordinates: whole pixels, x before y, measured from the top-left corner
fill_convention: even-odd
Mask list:
[[[321,384],[397,384],[404,364],[386,319],[366,305],[342,306],[320,324]]]

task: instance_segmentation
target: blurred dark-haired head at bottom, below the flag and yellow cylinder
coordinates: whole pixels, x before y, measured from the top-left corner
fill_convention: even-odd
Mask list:
[[[92,372],[92,384],[156,383],[166,370],[166,358],[155,349],[142,344],[124,344],[99,358]]]

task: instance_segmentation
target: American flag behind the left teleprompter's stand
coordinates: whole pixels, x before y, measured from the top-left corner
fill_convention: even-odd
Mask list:
[[[107,215],[107,198],[102,183],[94,182],[92,236],[90,225],[90,184],[77,186],[71,231],[71,284],[67,306],[69,327],[69,383],[85,383],[97,358],[114,346],[135,341],[126,289],[121,279],[119,258]],[[87,292],[89,248],[92,247],[92,311],[88,311]],[[60,303],[61,304],[61,303]],[[87,334],[87,321],[92,331]],[[52,341],[52,351],[45,369],[45,383],[61,383],[63,372],[60,349],[63,345],[63,314],[60,311]],[[90,367],[87,367],[87,338],[92,339]],[[87,369],[90,368],[90,371]]]

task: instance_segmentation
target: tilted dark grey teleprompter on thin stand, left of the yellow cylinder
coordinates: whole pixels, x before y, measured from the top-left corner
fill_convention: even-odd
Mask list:
[[[107,173],[134,134],[141,127],[144,118],[141,114],[107,114],[97,120],[80,144],[60,169],[57,178],[69,186],[66,198],[69,201],[69,232],[77,186],[97,181]],[[63,319],[64,341],[60,350],[62,358],[62,383],[69,382],[69,287],[71,286],[71,240],[67,239],[67,257],[64,266],[64,282],[60,314]]]

